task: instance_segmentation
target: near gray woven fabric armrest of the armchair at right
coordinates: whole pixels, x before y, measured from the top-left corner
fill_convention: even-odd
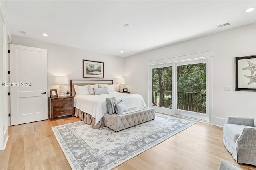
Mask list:
[[[256,128],[244,128],[236,140],[237,146],[253,146],[256,147]]]

